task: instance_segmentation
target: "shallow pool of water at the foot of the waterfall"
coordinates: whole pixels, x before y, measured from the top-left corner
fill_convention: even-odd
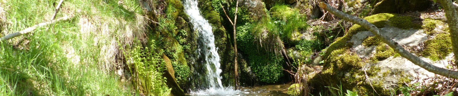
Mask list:
[[[292,83],[266,86],[241,87],[235,91],[233,87],[191,91],[191,96],[287,96],[286,92]]]

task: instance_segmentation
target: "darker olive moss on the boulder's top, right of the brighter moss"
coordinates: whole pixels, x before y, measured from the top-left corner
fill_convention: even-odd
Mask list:
[[[398,27],[402,29],[420,28],[420,25],[412,22],[412,20],[414,19],[412,19],[409,16],[394,16],[390,18],[389,20],[390,21],[388,24],[394,27]]]

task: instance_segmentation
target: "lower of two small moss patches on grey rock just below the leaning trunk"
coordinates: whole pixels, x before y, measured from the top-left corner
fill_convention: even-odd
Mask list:
[[[394,56],[396,52],[394,52],[393,48],[390,48],[388,45],[385,43],[377,45],[375,48],[376,53],[374,54],[375,59],[378,61],[382,61],[384,59],[387,59],[388,57]]]

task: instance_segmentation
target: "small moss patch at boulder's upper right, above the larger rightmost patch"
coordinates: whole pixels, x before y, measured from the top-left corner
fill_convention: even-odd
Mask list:
[[[444,25],[444,22],[440,21],[440,20],[434,20],[434,19],[431,19],[431,18],[426,18],[425,20],[423,20],[423,25],[421,26],[421,28],[423,28],[425,30],[425,33],[428,34],[428,35],[434,35],[437,33],[436,30],[436,27],[438,25]]]

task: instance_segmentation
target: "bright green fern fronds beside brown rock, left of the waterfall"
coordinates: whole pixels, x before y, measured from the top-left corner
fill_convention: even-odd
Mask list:
[[[154,43],[154,40],[152,42]],[[165,84],[166,78],[162,77],[163,71],[167,68],[161,55],[154,44],[144,49],[134,46],[131,51],[125,53],[125,58],[130,60],[131,74],[136,78],[133,82],[137,86],[137,92],[141,91],[147,96],[170,95],[171,89]]]

